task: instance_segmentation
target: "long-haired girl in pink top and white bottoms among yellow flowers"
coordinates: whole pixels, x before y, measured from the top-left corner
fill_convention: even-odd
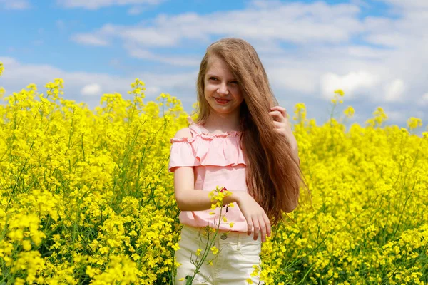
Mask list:
[[[197,81],[198,119],[178,130],[170,148],[168,170],[174,172],[180,212],[180,249],[175,252],[176,284],[195,273],[198,249],[204,249],[203,227],[217,229],[217,254],[207,261],[193,284],[258,284],[251,276],[261,264],[261,242],[271,225],[298,204],[301,179],[297,142],[284,108],[277,106],[265,69],[253,46],[236,38],[211,44],[200,63]],[[222,210],[228,223],[218,226],[208,193],[224,186],[232,195]],[[230,224],[233,222],[233,225]],[[252,234],[253,233],[253,234]],[[253,237],[251,237],[253,235]]]

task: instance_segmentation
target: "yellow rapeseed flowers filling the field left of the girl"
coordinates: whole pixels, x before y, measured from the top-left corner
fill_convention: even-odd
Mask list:
[[[134,100],[105,94],[89,110],[62,98],[62,79],[45,87],[0,104],[0,283],[167,283],[179,265],[165,168],[180,101],[143,104],[137,81]]]

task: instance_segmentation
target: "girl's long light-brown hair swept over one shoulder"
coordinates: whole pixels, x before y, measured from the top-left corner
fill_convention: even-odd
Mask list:
[[[282,221],[282,212],[298,203],[302,172],[293,160],[291,146],[272,127],[270,108],[277,105],[265,68],[257,52],[247,41],[223,38],[208,46],[200,63],[196,90],[198,123],[210,115],[204,95],[204,78],[210,56],[227,63],[243,93],[240,105],[241,147],[246,162],[246,183],[249,194],[263,207],[272,225]],[[309,190],[308,190],[309,192]]]

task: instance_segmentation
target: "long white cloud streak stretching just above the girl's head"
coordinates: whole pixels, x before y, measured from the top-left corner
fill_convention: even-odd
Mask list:
[[[109,37],[123,38],[126,43],[138,43],[142,47],[173,47],[185,40],[208,42],[210,36],[239,36],[253,41],[299,44],[340,43],[364,31],[364,26],[356,17],[359,11],[352,4],[291,3],[203,16],[195,13],[177,16],[161,14],[152,25],[106,25],[111,27]],[[106,36],[103,32],[105,27],[85,35],[97,38]]]

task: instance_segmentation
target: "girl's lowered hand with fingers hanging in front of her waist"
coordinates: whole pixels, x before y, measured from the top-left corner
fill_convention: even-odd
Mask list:
[[[236,195],[236,204],[247,220],[247,234],[250,235],[254,227],[254,240],[258,239],[259,231],[262,232],[262,242],[266,241],[266,234],[270,237],[270,221],[265,210],[258,202],[245,191],[233,191]]]

